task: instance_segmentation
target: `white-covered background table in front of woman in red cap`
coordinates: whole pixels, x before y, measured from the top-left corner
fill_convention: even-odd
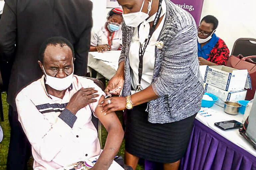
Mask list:
[[[88,67],[110,80],[118,68],[120,54],[121,51],[89,52]]]

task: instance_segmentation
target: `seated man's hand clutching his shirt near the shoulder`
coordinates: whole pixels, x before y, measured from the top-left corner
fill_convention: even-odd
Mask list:
[[[70,99],[66,108],[71,111],[73,114],[76,114],[78,110],[87,106],[90,103],[97,102],[96,97],[98,97],[97,90],[94,88],[81,88],[78,90]]]

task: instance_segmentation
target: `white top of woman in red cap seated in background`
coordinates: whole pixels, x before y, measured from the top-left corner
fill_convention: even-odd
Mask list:
[[[113,37],[113,45],[111,46],[111,50],[118,50],[120,46],[122,45],[122,30],[119,29],[118,31],[115,31],[114,37]],[[91,45],[97,46],[97,45],[103,45],[108,44],[108,31],[106,30],[105,26],[103,26],[99,30],[94,30],[91,33]]]

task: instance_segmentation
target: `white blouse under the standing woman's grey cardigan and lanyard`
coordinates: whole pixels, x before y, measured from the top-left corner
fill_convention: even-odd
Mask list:
[[[166,3],[165,1],[162,2],[162,13],[166,13]],[[155,47],[157,39],[161,33],[165,21],[165,15],[160,24],[158,25],[157,29],[154,31],[152,37],[149,40],[149,44],[145,50],[143,56],[143,72],[141,78],[141,90],[147,88],[152,81],[153,71],[155,67]],[[142,48],[144,47],[145,43],[142,44]],[[138,27],[135,28],[131,40],[130,51],[129,51],[129,63],[131,66],[131,85],[132,88],[135,90],[137,85],[139,85],[139,36],[138,36]]]

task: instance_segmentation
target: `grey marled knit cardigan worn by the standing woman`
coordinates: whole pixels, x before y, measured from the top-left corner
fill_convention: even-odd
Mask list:
[[[185,119],[197,113],[203,96],[202,77],[197,59],[197,29],[192,16],[166,0],[167,11],[155,48],[155,67],[152,88],[159,98],[149,102],[148,121],[168,123]],[[134,28],[123,23],[123,47],[119,59],[125,62],[125,81],[122,96],[131,94],[129,50]],[[146,56],[144,56],[146,57]]]

